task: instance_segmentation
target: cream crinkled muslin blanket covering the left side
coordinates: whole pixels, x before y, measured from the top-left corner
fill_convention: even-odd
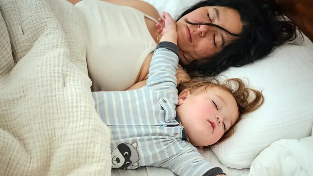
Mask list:
[[[110,176],[74,6],[0,0],[0,12],[0,175]]]

